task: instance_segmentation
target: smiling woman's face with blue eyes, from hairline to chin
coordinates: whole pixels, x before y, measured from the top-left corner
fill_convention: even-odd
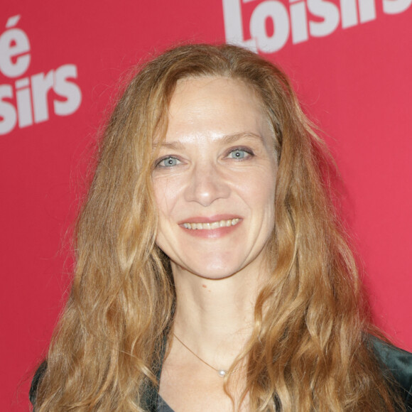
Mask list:
[[[258,97],[243,82],[178,82],[153,170],[156,243],[173,273],[253,270],[273,232],[276,158]]]

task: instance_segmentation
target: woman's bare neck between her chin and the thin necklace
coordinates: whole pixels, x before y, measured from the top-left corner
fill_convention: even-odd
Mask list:
[[[223,279],[196,276],[172,264],[177,295],[175,335],[198,356],[229,367],[251,335],[259,273]]]

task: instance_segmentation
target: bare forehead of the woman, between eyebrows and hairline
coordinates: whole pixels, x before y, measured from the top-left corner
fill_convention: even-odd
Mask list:
[[[229,77],[180,80],[168,110],[166,141],[184,136],[254,133],[271,135],[268,117],[255,90]]]

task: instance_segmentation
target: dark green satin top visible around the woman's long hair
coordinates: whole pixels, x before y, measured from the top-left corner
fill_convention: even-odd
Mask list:
[[[388,345],[376,337],[371,337],[371,342],[384,374],[387,375],[390,372],[394,376],[399,384],[399,391],[406,411],[412,412],[412,353]],[[43,362],[31,382],[29,398],[33,405],[36,400],[38,384],[46,367],[46,362]],[[161,368],[158,369],[156,375],[158,381],[160,381]],[[149,412],[173,412],[173,409],[161,398],[152,384],[148,385],[143,401],[145,403],[143,407]]]

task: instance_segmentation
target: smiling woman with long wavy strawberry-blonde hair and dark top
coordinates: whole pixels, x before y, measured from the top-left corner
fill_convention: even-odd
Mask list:
[[[283,72],[232,45],[169,50],[114,109],[77,225],[40,411],[395,411],[406,352],[372,335]],[[409,366],[411,369],[411,366]]]

